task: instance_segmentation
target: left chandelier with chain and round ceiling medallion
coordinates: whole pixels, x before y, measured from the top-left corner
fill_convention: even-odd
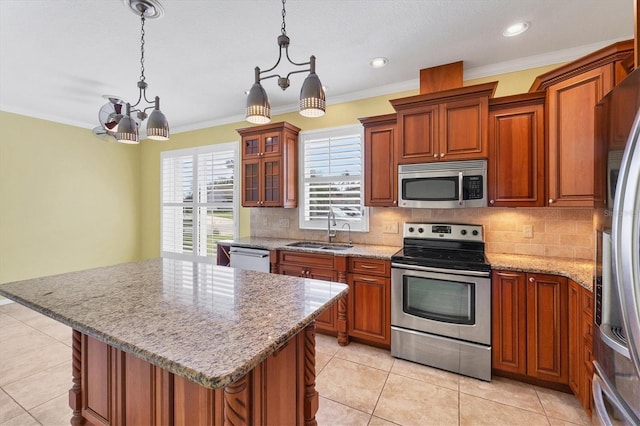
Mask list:
[[[140,16],[140,81],[138,81],[138,100],[135,104],[127,103],[125,115],[118,123],[116,131],[116,139],[118,142],[136,144],[140,142],[138,135],[138,124],[131,117],[131,113],[135,112],[138,120],[142,122],[147,117],[147,137],[155,140],[169,139],[169,123],[167,118],[160,111],[160,98],[155,97],[153,101],[147,99],[148,84],[144,76],[144,23],[147,18],[155,19],[164,15],[164,9],[157,0],[123,0],[131,10]],[[144,100],[149,106],[138,108],[138,105]],[[150,115],[147,111],[153,109]]]

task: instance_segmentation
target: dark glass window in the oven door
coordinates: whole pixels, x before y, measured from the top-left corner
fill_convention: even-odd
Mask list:
[[[404,276],[403,310],[433,321],[475,323],[475,283]]]

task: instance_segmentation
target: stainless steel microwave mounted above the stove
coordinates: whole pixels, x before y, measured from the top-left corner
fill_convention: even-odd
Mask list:
[[[398,197],[400,207],[486,207],[487,160],[401,164]]]

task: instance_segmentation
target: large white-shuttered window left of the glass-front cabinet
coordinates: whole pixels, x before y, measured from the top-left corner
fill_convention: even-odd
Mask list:
[[[214,262],[216,242],[237,236],[238,144],[161,154],[162,256]]]

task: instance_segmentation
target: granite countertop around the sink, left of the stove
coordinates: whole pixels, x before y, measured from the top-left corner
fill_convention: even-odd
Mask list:
[[[266,250],[301,251],[309,253],[332,254],[334,256],[370,257],[374,259],[385,260],[390,260],[391,256],[393,256],[401,248],[396,246],[379,246],[373,244],[353,244],[353,247],[349,247],[344,250],[327,250],[307,247],[291,247],[288,245],[297,241],[300,240],[291,240],[286,238],[243,237],[235,240],[221,241],[220,243],[225,245],[261,248]],[[331,244],[328,243],[326,245],[331,246]],[[335,246],[344,246],[344,244],[335,244]]]

